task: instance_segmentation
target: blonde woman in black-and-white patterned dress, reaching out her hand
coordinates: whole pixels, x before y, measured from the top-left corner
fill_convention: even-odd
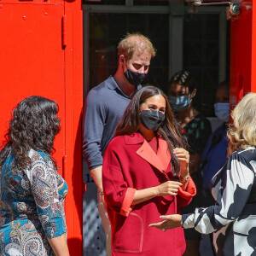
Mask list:
[[[217,255],[256,255],[256,93],[244,96],[231,113],[229,159],[212,178],[212,207],[160,216],[158,229],[182,226],[213,233]]]

